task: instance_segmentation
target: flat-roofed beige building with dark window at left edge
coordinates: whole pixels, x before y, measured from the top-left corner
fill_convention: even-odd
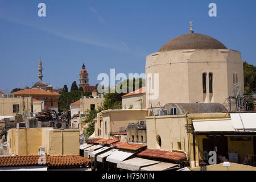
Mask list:
[[[29,117],[33,113],[31,97],[0,98],[0,117],[22,114]]]

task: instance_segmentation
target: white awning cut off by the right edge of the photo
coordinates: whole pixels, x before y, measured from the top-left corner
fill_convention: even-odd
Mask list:
[[[256,131],[256,113],[231,113],[234,129]]]

